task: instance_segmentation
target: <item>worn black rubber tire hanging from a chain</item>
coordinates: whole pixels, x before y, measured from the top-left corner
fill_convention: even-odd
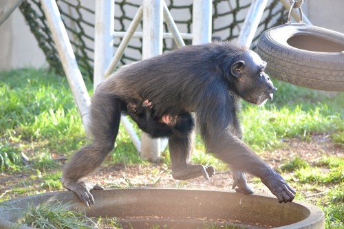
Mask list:
[[[344,34],[313,25],[280,25],[261,34],[266,72],[287,83],[344,91]]]

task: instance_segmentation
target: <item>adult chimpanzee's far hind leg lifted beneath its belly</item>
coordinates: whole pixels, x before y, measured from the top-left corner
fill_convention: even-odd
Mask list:
[[[169,151],[174,179],[191,179],[200,176],[209,179],[215,175],[213,166],[191,164],[193,133],[184,136],[184,138],[178,135],[169,137]]]

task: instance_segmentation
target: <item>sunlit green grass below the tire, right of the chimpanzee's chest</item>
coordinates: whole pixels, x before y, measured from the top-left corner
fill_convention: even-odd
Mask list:
[[[244,104],[241,120],[244,140],[256,151],[283,146],[283,139],[308,140],[311,135],[330,133],[344,144],[344,94],[335,97],[323,91],[275,82],[275,101],[264,107]]]

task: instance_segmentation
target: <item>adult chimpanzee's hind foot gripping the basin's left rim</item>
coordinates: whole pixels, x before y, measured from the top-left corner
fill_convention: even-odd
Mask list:
[[[93,185],[87,182],[78,181],[72,182],[67,179],[61,178],[61,182],[65,188],[71,190],[72,192],[76,193],[80,200],[89,208],[94,204],[93,195],[89,192],[90,190],[103,190],[102,186]]]

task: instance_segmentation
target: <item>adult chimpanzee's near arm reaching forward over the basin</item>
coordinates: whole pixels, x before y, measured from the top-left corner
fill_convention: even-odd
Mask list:
[[[196,112],[206,149],[230,164],[235,171],[247,171],[261,178],[280,202],[292,201],[295,191],[281,175],[265,164],[240,138],[228,131],[233,120],[233,99],[224,96],[219,90],[213,91],[213,95],[208,98],[212,98],[208,102],[209,107],[200,107]]]

